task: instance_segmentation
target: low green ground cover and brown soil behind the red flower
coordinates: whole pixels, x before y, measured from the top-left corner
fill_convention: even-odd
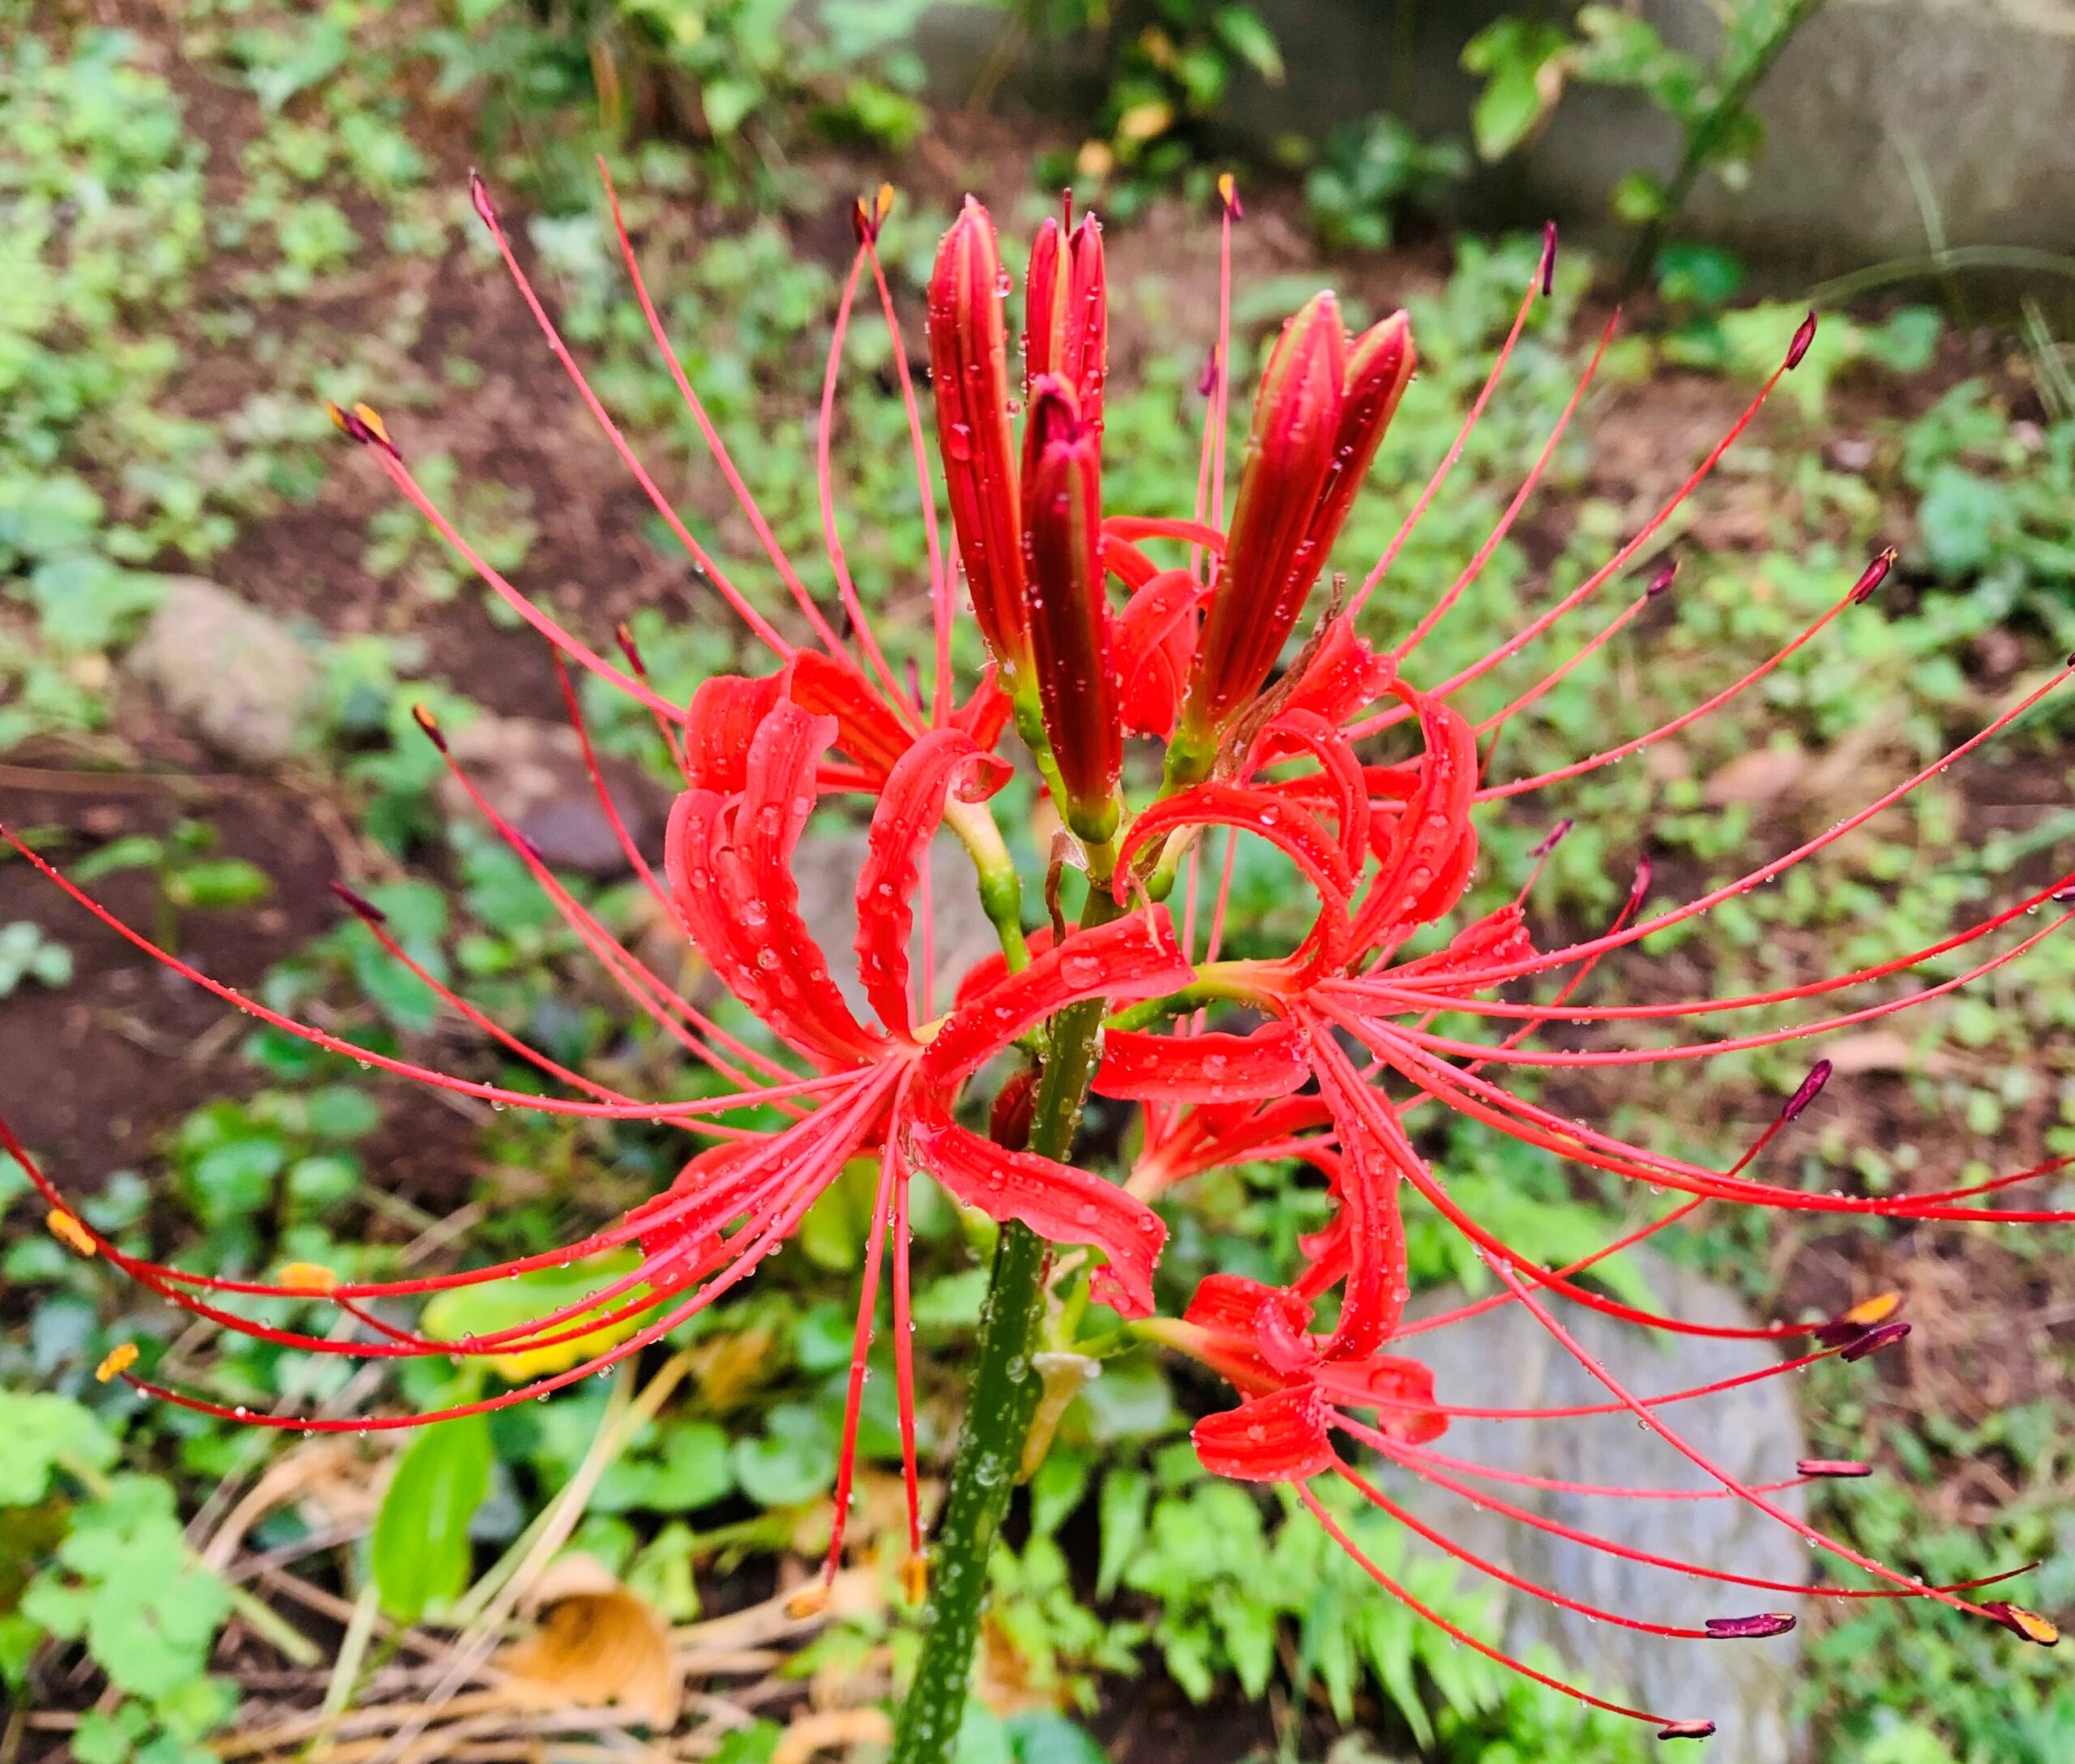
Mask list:
[[[334,446],[324,401],[367,396],[409,425],[425,481],[490,560],[589,629],[627,618],[660,689],[685,695],[743,654],[569,417],[471,224],[467,166],[481,162],[523,216],[527,257],[602,394],[658,444],[685,504],[741,550],[747,533],[726,527],[602,226],[585,158],[608,147],[687,369],[778,538],[807,558],[820,554],[820,508],[801,461],[813,452],[853,193],[882,174],[901,187],[886,255],[917,313],[965,187],[1023,237],[1050,208],[1021,197],[1033,189],[1027,131],[946,110],[932,143],[913,145],[925,112],[905,25],[867,21],[878,8],[824,8],[807,48],[776,60],[743,46],[768,42],[782,8],[706,8],[691,37],[689,8],[600,10],[610,17],[224,0],[81,23],[17,8],[21,29],[0,50],[6,820],[75,876],[98,874],[133,921],[212,973],[371,1050],[440,1046],[486,1077],[510,1077],[496,1048],[442,1015],[365,924],[336,913],[326,880],[351,878],[415,959],[560,1060],[643,1079],[670,1073],[672,1050],[625,1021],[519,861],[442,799],[411,704],[454,731],[471,716],[554,718],[554,677],[533,639],[486,610],[415,517]],[[1228,54],[1262,62],[1245,25],[1224,31]],[[656,42],[676,48],[658,60]],[[1125,114],[1112,104],[1102,127],[1116,135]],[[1062,131],[1048,151],[1071,162],[1079,149]],[[1187,187],[1181,162],[1174,181]],[[1123,502],[1135,484],[1195,471],[1216,235],[1204,205],[1164,189],[1133,189],[1127,205],[1143,212],[1112,235],[1108,442]],[[1253,349],[1328,278],[1351,311],[1411,309],[1421,378],[1345,535],[1347,556],[1365,560],[1453,438],[1540,241],[1415,226],[1413,243],[1365,255],[1355,247],[1388,235],[1347,220],[1353,197],[1334,195],[1322,218],[1316,191],[1313,178],[1309,205],[1295,185],[1249,193],[1237,324]],[[1324,270],[1318,232],[1340,251]],[[1583,434],[1436,637],[1436,666],[1473,658],[1479,627],[1581,579],[1683,475],[1799,318],[1724,303],[1733,276],[1706,253],[1662,266],[1662,326],[1612,344]],[[1490,529],[1604,315],[1592,266],[1565,257],[1554,303],[1396,571],[1401,598],[1380,598],[1382,623],[1417,612],[1421,589],[1453,579]],[[923,523],[884,336],[859,326],[849,369],[838,477],[849,506],[869,511],[855,519],[851,567],[882,629],[925,641],[925,616],[901,600],[915,598],[901,583],[917,579]],[[1897,303],[1826,313],[1795,398],[1768,413],[1675,535],[1679,591],[1506,739],[1569,757],[1660,722],[1718,687],[1726,658],[1785,641],[1851,560],[1894,544],[1884,616],[1797,654],[1677,745],[1571,787],[1577,830],[1550,863],[1544,911],[1604,915],[1639,845],[1666,901],[1735,874],[1731,859],[1755,840],[1828,824],[1868,795],[1861,780],[1930,762],[2075,647],[2065,378],[2058,353],[1994,324]],[[311,645],[299,739],[272,768],[232,770],[125,677],[127,645],[183,573],[230,585]],[[809,585],[830,589],[811,573]],[[977,645],[963,660],[977,666]],[[1892,714],[1870,722],[1872,704]],[[625,706],[598,695],[591,710],[610,751],[660,766],[652,731]],[[1645,946],[1635,984],[1743,992],[1874,961],[1936,940],[2011,878],[2065,870],[2065,710],[2031,720],[1807,874],[1726,903],[1710,938]],[[1525,818],[1502,828],[1479,888],[1502,899],[1517,886],[1544,830]],[[1040,863],[1035,849],[1019,855]],[[633,888],[573,886],[627,938],[647,930]],[[1301,932],[1309,909],[1280,905],[1272,865],[1243,861],[1235,888],[1245,921],[1286,930],[1276,915],[1289,911]],[[1940,1000],[1907,1033],[1853,1038],[1855,1083],[1805,1135],[1801,1179],[1930,1187],[2075,1152],[2071,977],[2075,955],[2048,942],[2021,977]],[[85,1197],[89,1222],[125,1243],[191,1266],[380,1274],[436,1264],[463,1239],[498,1256],[560,1243],[672,1175],[668,1150],[637,1129],[452,1108],[353,1060],[214,1023],[68,917],[23,865],[0,867],[4,1100]],[[1932,1042],[1946,1044],[1936,1058],[1924,1054]],[[1685,1085],[1645,1075],[1625,1081],[1610,1125],[1693,1152],[1799,1077],[1791,1054],[1768,1052],[1712,1060]],[[1560,1085],[1550,1094],[1562,1100]],[[1565,1260],[1625,1220],[1614,1193],[1473,1129],[1457,1127],[1444,1156],[1461,1191],[1521,1208],[1513,1237],[1529,1253]],[[338,1747],[388,1737],[403,1716],[355,1720],[432,1691],[450,1652],[510,1615],[513,1571],[552,1532],[639,1600],[637,1635],[660,1621],[679,1658],[706,1662],[695,1683],[712,1706],[685,1718],[683,1756],[768,1758],[799,1743],[805,1718],[824,1722],[809,1743],[884,1737],[874,1698],[909,1650],[896,1556],[884,1573],[853,1571],[832,1621],[791,1623],[776,1598],[826,1538],[849,1372],[845,1280],[869,1181],[838,1185],[795,1253],[685,1330],[668,1359],[450,1424],[403,1453],[351,1436],[270,1442],[98,1384],[102,1357],[137,1343],[160,1374],[255,1409],[367,1395],[328,1386],[328,1370],[295,1353],[181,1332],[68,1256],[10,1170],[0,1195],[0,1745],[12,1756],[272,1758],[320,1733]],[[1284,1166],[1222,1173],[1174,1212],[1162,1278],[1187,1293],[1218,1268],[1268,1274],[1276,1249],[1320,1218],[1320,1191]],[[986,1243],[942,1202],[917,1204],[915,1229],[925,1444],[942,1449]],[[1432,1218],[1411,1229],[1421,1283],[1475,1291],[1482,1270],[1459,1239]],[[1675,1245],[1780,1314],[1905,1291],[1917,1318],[1905,1355],[1878,1376],[1824,1366],[1803,1386],[1811,1440],[1880,1465],[1824,1517],[1934,1579],[2042,1556],[2031,1598],[2048,1610],[2075,1602],[2052,1561],[2071,1476],[2065,1249],[2065,1233],[1841,1235],[1758,1220]],[[450,1320],[457,1334],[498,1324]],[[898,1532],[892,1378],[880,1370],[855,1521],[867,1542]],[[452,1374],[417,1376],[403,1380],[415,1403],[457,1395]],[[1139,1696],[1133,1675],[1177,1710],[1208,1708],[1177,1731],[1222,1756],[1382,1747],[1496,1764],[1608,1760],[1637,1743],[1448,1648],[1280,1503],[1201,1478],[1185,1440],[1201,1403],[1123,1355],[1060,1417],[994,1565],[990,1708],[965,1741],[975,1760],[1096,1756],[1096,1735],[1116,1733],[1120,1702]],[[1351,1523],[1378,1559],[1399,1559],[1388,1525]],[[1409,1559],[1407,1575],[1467,1627],[1498,1625],[1496,1600],[1436,1563]],[[2075,1741],[2075,1700],[2052,1658],[1944,1613],[1870,1606],[1818,1629],[1801,1696],[1826,1758],[2050,1760]],[[554,1685],[558,1671],[566,1662],[550,1658],[542,1675]],[[297,1727],[309,1710],[332,1727]],[[527,1718],[535,1737],[552,1733],[554,1698]],[[1156,1756],[1154,1741],[1137,1743]]]

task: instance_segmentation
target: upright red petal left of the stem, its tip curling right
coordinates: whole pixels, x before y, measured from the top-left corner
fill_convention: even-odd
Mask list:
[[[959,728],[934,728],[894,762],[872,811],[865,867],[857,874],[857,977],[880,1021],[909,1033],[909,932],[921,855],[944,820],[944,797],[979,803],[1015,768],[981,751]]]

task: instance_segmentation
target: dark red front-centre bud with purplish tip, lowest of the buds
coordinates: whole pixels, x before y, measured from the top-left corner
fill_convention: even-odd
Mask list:
[[[1102,596],[1102,450],[1058,376],[1031,384],[1023,434],[1023,544],[1031,668],[1067,824],[1116,832],[1125,733]]]

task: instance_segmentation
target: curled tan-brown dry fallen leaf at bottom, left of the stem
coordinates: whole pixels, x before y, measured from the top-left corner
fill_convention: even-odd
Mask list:
[[[510,1700],[521,1708],[616,1702],[658,1731],[674,1727],[670,1625],[589,1559],[571,1561],[587,1567],[566,1569],[560,1586],[550,1569],[540,1588],[540,1629],[498,1656]]]

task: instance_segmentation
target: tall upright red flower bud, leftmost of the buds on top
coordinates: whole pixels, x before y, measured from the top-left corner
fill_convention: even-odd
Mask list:
[[[1008,436],[1008,351],[1002,255],[988,212],[965,210],[936,251],[930,278],[930,386],[950,492],[950,525],[979,633],[1011,693],[1029,672],[1015,444]]]

